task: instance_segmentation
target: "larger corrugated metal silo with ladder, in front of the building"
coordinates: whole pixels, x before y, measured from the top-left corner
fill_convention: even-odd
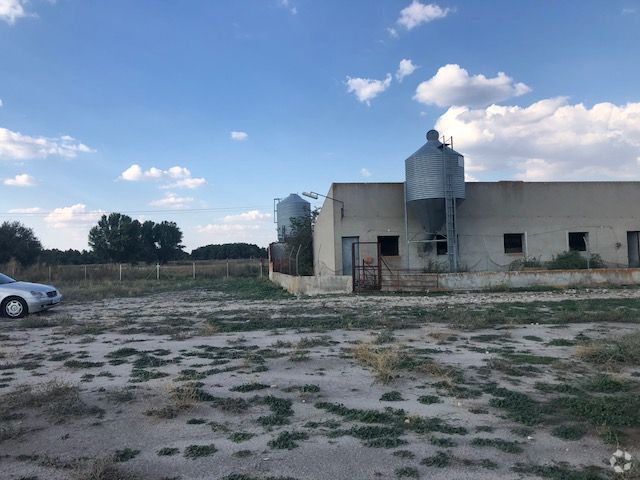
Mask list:
[[[449,270],[458,269],[456,205],[465,198],[464,157],[442,143],[436,130],[427,132],[427,143],[405,161],[407,208],[417,214],[433,240],[446,235]]]

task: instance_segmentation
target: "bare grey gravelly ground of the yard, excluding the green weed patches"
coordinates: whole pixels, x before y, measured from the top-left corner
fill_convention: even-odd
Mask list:
[[[544,311],[545,305],[553,306],[554,302],[580,304],[594,299],[628,301],[631,308],[636,308],[640,290],[280,300],[240,299],[215,290],[194,290],[67,304],[25,321],[4,321],[0,329],[0,395],[4,395],[0,477],[514,479],[540,478],[516,472],[518,464],[549,466],[566,462],[568,465],[562,468],[579,475],[586,466],[603,469],[599,477],[572,477],[576,480],[610,478],[608,459],[616,445],[605,443],[600,429],[580,422],[586,428],[584,436],[564,440],[552,435],[553,428],[574,424],[574,418],[558,416],[523,425],[504,409],[490,404],[495,395],[487,386],[522,392],[553,406],[555,394],[541,391],[536,382],[577,385],[602,373],[576,357],[576,338],[631,334],[639,331],[637,323],[529,322],[473,331],[457,330],[446,323],[416,323],[415,319],[410,328],[393,331],[375,323],[371,328],[362,323],[340,329],[314,325],[314,319],[379,319],[401,316],[408,309],[438,312],[451,307],[536,302],[536,308]],[[297,317],[307,323],[296,328],[279,328],[272,323]],[[210,325],[212,318],[238,321],[234,328],[250,319],[262,319],[265,326],[225,332]],[[567,340],[567,345],[555,345],[558,339]],[[382,383],[371,364],[353,357],[352,349],[358,344],[368,345],[373,352],[402,354],[414,362],[397,366],[393,378]],[[135,350],[125,355],[123,348]],[[531,358],[522,362],[517,355]],[[446,375],[414,365],[420,362],[450,368],[462,377],[452,383],[444,378]],[[514,374],[507,371],[510,366],[524,370]],[[640,375],[640,369],[630,364],[606,373],[635,388],[634,378]],[[56,404],[53,397],[38,405],[19,400],[23,403],[11,406],[10,396],[20,392],[22,386],[40,386],[52,380],[71,389],[78,387],[81,404],[99,410],[73,405],[48,411],[53,410],[48,406]],[[250,384],[264,388],[232,390]],[[304,391],[302,387],[309,385],[314,387]],[[451,385],[460,388],[451,389]],[[176,388],[195,390],[196,395],[177,398]],[[467,395],[464,389],[476,393]],[[392,391],[399,392],[402,399],[380,400]],[[198,397],[203,392],[209,397]],[[265,403],[267,396],[290,401],[291,412],[285,415],[285,424],[260,423],[261,417],[274,413]],[[437,403],[422,403],[419,399],[424,396],[433,396]],[[220,399],[231,400],[221,407]],[[67,404],[70,401],[64,400]],[[246,408],[242,408],[243,402]],[[368,438],[357,438],[348,433],[349,429],[390,424],[369,424],[362,418],[337,415],[319,408],[319,402],[343,404],[358,411],[402,409],[402,413],[396,410],[399,423],[392,424],[402,432],[390,435],[396,443],[367,446]],[[150,410],[168,406],[172,407],[171,413],[165,416],[171,418],[149,415]],[[545,415],[553,416],[553,412]],[[450,429],[416,431],[412,422],[417,418],[439,419]],[[523,428],[529,431],[523,434]],[[289,444],[290,449],[270,445],[283,431],[306,435],[294,442],[295,447]],[[234,433],[248,435],[236,442],[230,439]],[[626,434],[626,443],[621,446],[637,458],[637,432],[627,429]],[[434,445],[434,437],[449,439],[449,445]],[[494,442],[479,446],[478,439]],[[507,447],[496,448],[495,440],[505,442]],[[216,451],[209,456],[185,456],[191,445],[211,444]],[[517,452],[504,451],[514,446]],[[126,459],[121,451],[127,448],[139,452]],[[159,456],[162,448],[177,449],[177,453]],[[119,458],[126,460],[114,463],[120,473],[89,473],[95,459],[109,462],[118,451]],[[447,465],[422,462],[437,452],[445,452]],[[544,474],[542,470],[538,473]],[[242,474],[245,477],[239,476]],[[563,475],[567,474],[545,478],[569,478]]]

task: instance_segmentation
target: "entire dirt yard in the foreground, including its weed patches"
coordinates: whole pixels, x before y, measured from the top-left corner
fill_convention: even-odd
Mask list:
[[[0,325],[3,479],[638,478],[637,289],[206,288]]]

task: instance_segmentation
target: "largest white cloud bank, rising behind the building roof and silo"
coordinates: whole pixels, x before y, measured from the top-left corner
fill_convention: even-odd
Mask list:
[[[558,97],[526,107],[451,107],[436,129],[454,137],[456,150],[476,175],[640,179],[640,103],[598,103],[589,108]]]

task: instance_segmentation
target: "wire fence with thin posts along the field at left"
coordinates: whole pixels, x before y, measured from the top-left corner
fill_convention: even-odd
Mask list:
[[[125,282],[131,280],[186,280],[230,277],[267,277],[264,259],[229,259],[168,264],[0,265],[0,273],[29,282]]]

